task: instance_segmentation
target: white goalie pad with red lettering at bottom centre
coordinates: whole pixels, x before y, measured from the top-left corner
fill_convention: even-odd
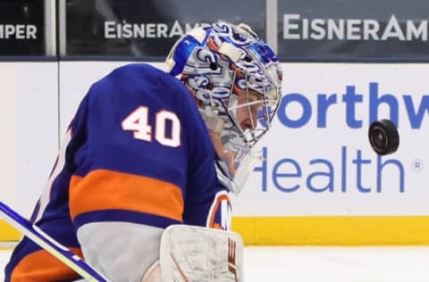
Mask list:
[[[236,232],[172,225],[161,239],[163,281],[243,281],[243,241]]]

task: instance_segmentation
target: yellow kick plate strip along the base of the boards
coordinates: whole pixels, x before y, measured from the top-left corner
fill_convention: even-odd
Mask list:
[[[429,217],[235,217],[245,245],[429,245]],[[0,221],[0,242],[21,234]]]

